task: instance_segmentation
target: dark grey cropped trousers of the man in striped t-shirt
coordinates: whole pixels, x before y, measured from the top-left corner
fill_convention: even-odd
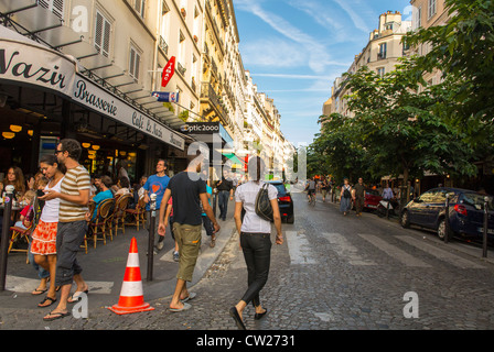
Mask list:
[[[83,268],[77,263],[77,252],[87,232],[86,220],[58,222],[56,232],[56,286],[72,285],[74,275]]]

